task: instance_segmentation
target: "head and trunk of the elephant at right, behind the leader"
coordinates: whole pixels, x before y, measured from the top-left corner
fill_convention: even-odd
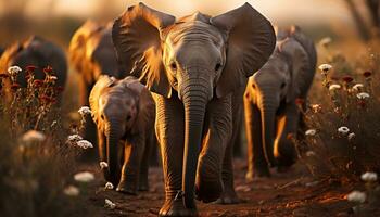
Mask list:
[[[293,38],[278,41],[268,62],[250,78],[254,91],[254,103],[262,112],[262,138],[265,157],[271,166],[276,165],[274,140],[276,114],[284,112],[288,104],[295,103],[302,91],[300,88],[309,79],[309,56]]]

